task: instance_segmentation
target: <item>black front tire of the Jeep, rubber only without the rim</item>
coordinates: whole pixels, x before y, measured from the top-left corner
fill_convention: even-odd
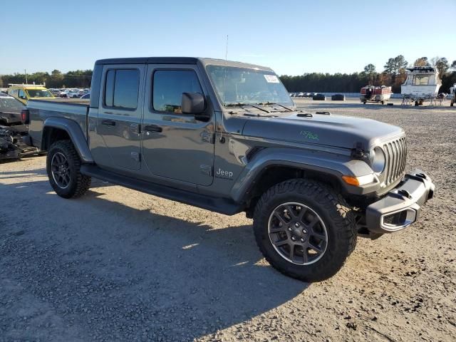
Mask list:
[[[326,226],[326,251],[314,264],[287,261],[269,239],[269,217],[276,207],[287,202],[299,202],[311,208]],[[254,234],[269,264],[286,276],[308,282],[323,281],[336,274],[356,247],[353,211],[331,187],[314,180],[286,180],[267,190],[255,207]]]

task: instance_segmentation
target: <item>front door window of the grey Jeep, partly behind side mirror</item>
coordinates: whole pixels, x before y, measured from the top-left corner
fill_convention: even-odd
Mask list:
[[[160,112],[182,113],[182,93],[202,93],[192,70],[157,70],[153,74],[152,108]]]

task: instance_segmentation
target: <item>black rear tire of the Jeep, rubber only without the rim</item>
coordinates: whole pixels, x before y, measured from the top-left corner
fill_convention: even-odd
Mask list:
[[[68,172],[70,174],[70,182],[68,187],[61,188],[53,179],[51,172],[51,161],[53,155],[57,152],[65,155],[68,160]],[[81,158],[76,152],[76,149],[71,140],[58,140],[51,145],[46,158],[46,171],[48,173],[49,182],[56,194],[63,198],[77,198],[84,195],[90,187],[91,178],[81,174]]]

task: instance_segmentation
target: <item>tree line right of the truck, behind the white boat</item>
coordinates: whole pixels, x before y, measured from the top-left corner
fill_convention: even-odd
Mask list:
[[[450,87],[456,83],[456,61],[452,64],[447,58],[427,57],[418,58],[409,64],[404,56],[399,55],[389,58],[383,66],[382,72],[375,71],[373,64],[368,64],[364,70],[358,73],[304,73],[300,76],[281,76],[286,89],[290,92],[319,92],[319,93],[358,93],[364,86],[391,86],[393,93],[400,93],[400,85],[407,78],[407,69],[412,66],[433,66],[439,71],[442,86],[439,93],[448,93]]]

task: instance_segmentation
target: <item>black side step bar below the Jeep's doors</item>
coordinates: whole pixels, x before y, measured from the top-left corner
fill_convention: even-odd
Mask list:
[[[166,187],[165,185],[145,182],[144,180],[134,180],[130,177],[125,177],[123,175],[118,175],[116,173],[100,169],[100,167],[96,165],[81,165],[81,173],[86,176],[98,178],[99,180],[122,185],[123,187],[128,187],[140,192],[145,192],[149,195],[155,195],[171,199],[172,201],[190,204],[212,212],[219,212],[220,214],[234,215],[238,212],[242,212],[242,207],[229,199],[208,197],[194,192],[175,189],[174,187]]]

